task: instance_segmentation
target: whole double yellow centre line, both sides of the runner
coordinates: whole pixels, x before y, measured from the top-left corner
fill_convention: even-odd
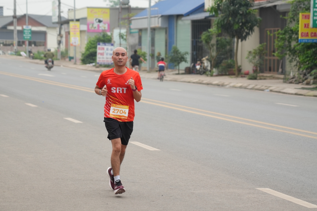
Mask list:
[[[66,88],[71,88],[71,89],[76,89],[76,90],[81,90],[81,91],[87,91],[87,92],[94,93],[94,89],[92,89],[92,88],[87,88],[87,87],[82,87],[82,86],[77,86],[77,85],[71,85],[71,84],[63,84],[63,83],[60,83],[60,82],[50,81],[50,80],[41,79],[41,78],[34,78],[34,77],[30,77],[30,76],[23,76],[23,75],[19,75],[19,74],[15,74],[15,73],[4,72],[4,71],[0,71],[0,74],[13,76],[13,77],[17,77],[17,78],[24,78],[24,79],[28,79],[28,80],[41,82],[41,83],[46,83],[46,84],[51,84],[51,85],[56,85],[56,86],[61,86],[61,87],[66,87]],[[147,101],[144,101],[144,100],[153,101],[153,102],[147,102]],[[275,125],[275,124],[270,124],[270,123],[266,123],[266,122],[245,119],[245,118],[241,118],[241,117],[221,114],[221,113],[207,111],[207,110],[203,110],[203,109],[191,108],[191,107],[188,107],[188,106],[182,106],[182,105],[178,105],[178,104],[174,104],[174,103],[162,102],[162,101],[152,100],[152,99],[148,99],[148,98],[142,98],[141,102],[145,102],[145,103],[152,104],[152,105],[158,105],[158,106],[162,106],[162,107],[165,107],[165,108],[185,111],[185,112],[189,112],[189,113],[193,113],[193,114],[197,114],[197,115],[209,116],[209,117],[212,117],[212,118],[217,118],[217,119],[221,119],[221,120],[225,120],[225,121],[236,122],[236,123],[240,123],[240,124],[244,124],[244,125],[249,125],[249,126],[254,126],[254,127],[261,127],[261,128],[265,128],[265,129],[269,129],[269,130],[275,130],[275,131],[279,131],[279,132],[283,132],[283,133],[290,133],[290,134],[294,134],[294,135],[299,135],[299,136],[304,136],[304,137],[308,137],[308,138],[317,139],[317,137],[315,137],[315,136],[310,136],[310,135],[301,134],[301,133],[294,133],[294,132],[291,132],[291,131],[280,130],[280,129],[276,129],[276,128],[272,128],[272,127],[256,125],[256,124],[243,122],[243,121],[236,121],[236,120],[227,119],[227,118],[223,118],[223,117],[219,117],[219,116],[213,116],[213,115],[208,115],[208,114],[204,114],[204,113],[200,113],[200,112],[195,112],[195,111],[192,111],[192,110],[206,112],[206,113],[211,113],[211,114],[216,114],[216,115],[222,115],[222,116],[235,118],[235,119],[240,119],[240,120],[244,120],[244,121],[251,121],[251,122],[256,122],[256,123],[260,123],[260,124],[270,125],[270,126],[274,126],[274,127],[281,127],[281,128],[285,128],[285,129],[289,129],[289,130],[300,131],[300,132],[304,132],[304,133],[311,133],[311,134],[316,134],[317,135],[317,133],[315,133],[315,132],[301,130],[301,129],[296,129],[296,128],[292,128],[292,127],[284,127],[284,126],[281,126],[281,125]],[[159,103],[154,103],[154,102],[164,103],[164,104],[167,104],[167,105],[173,105],[173,106],[182,107],[182,108],[191,109],[191,110],[180,109],[180,108],[167,106],[167,105],[164,105],[164,104],[159,104]]]

